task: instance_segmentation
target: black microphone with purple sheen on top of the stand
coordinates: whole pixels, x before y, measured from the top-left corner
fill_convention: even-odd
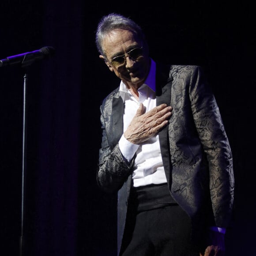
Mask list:
[[[55,49],[51,46],[42,47],[39,50],[21,53],[18,55],[7,57],[3,60],[0,60],[0,67],[12,66],[12,65],[21,65],[21,67],[26,67],[32,64],[36,60],[42,60],[46,57],[53,56]]]

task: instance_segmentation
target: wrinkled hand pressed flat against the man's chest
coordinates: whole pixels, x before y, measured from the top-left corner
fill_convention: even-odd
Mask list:
[[[146,141],[168,124],[172,109],[171,106],[162,104],[144,113],[144,106],[140,103],[139,109],[124,132],[124,137],[133,144]]]

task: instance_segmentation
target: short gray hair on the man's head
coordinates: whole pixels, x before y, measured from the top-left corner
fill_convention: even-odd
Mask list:
[[[145,40],[141,27],[132,19],[124,17],[120,14],[110,13],[109,15],[102,17],[102,19],[98,23],[96,30],[95,42],[98,52],[100,54],[104,55],[102,49],[102,41],[107,36],[107,34],[115,29],[130,30],[132,33],[136,34],[141,40]]]

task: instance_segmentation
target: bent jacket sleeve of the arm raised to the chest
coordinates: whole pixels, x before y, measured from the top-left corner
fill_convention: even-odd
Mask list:
[[[105,192],[117,192],[128,176],[132,173],[133,159],[128,162],[124,159],[118,143],[111,149],[109,147],[108,135],[106,126],[109,125],[109,120],[106,121],[103,105],[101,111],[102,124],[102,144],[99,150],[99,163],[97,172],[97,182],[100,188]],[[108,115],[107,115],[108,116]],[[111,135],[109,135],[111,136]]]

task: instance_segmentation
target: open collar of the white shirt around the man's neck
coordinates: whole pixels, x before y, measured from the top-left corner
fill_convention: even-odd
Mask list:
[[[143,89],[143,87],[147,85],[148,87],[151,88],[151,90],[155,92],[155,71],[156,71],[156,64],[154,60],[151,59],[151,66],[150,66],[150,71],[147,75],[147,79],[145,80],[145,83],[143,83],[143,85],[139,87],[139,90]],[[126,93],[129,93],[129,90],[126,87],[126,85],[123,83],[123,81],[121,81],[120,87],[119,87],[119,94],[120,94],[120,97],[123,99],[123,101]]]

